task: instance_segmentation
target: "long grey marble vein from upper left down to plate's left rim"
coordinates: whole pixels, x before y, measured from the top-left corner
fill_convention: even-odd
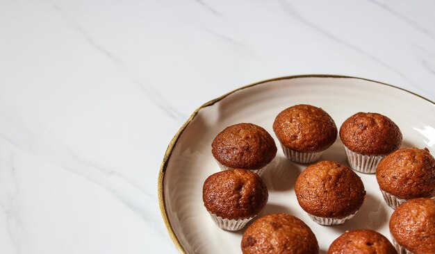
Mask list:
[[[71,26],[73,26],[76,29],[76,31],[78,31],[83,36],[83,38],[89,42],[90,45],[92,45],[99,52],[103,53],[104,56],[106,56],[110,61],[112,61],[118,67],[117,69],[120,70],[122,75],[124,77],[128,78],[129,81],[131,81],[134,85],[137,85],[138,88],[142,92],[144,92],[144,94],[148,97],[148,99],[150,99],[151,102],[154,103],[154,105],[156,105],[163,112],[165,112],[168,117],[170,117],[171,119],[174,119],[176,121],[181,121],[183,119],[186,119],[186,115],[183,115],[176,108],[174,108],[172,105],[170,105],[170,103],[167,102],[165,97],[163,95],[161,95],[160,93],[158,93],[153,87],[151,87],[150,85],[147,85],[146,83],[138,81],[137,78],[135,78],[133,75],[129,74],[128,71],[126,70],[126,65],[124,64],[124,62],[122,62],[122,60],[120,60],[119,58],[115,57],[113,55],[113,53],[110,53],[110,51],[105,49],[103,46],[101,46],[100,44],[95,42],[95,40],[92,39],[92,37],[89,35],[89,33],[87,33],[81,26],[79,26],[79,24],[74,22],[72,20],[72,18],[69,17],[69,14],[65,10],[63,10],[63,8],[60,8],[60,6],[58,6],[56,3],[52,2],[52,1],[47,1],[47,3],[49,3],[49,5],[52,8],[54,8],[61,15],[63,15],[63,17],[65,17],[67,22]]]

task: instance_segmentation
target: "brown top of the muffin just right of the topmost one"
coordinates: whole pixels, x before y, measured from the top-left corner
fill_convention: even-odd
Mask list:
[[[402,133],[388,117],[359,112],[340,127],[340,139],[348,149],[363,155],[386,155],[400,148]]]

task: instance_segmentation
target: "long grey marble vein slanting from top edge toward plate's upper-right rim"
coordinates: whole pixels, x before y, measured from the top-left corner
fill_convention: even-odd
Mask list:
[[[332,33],[329,33],[323,28],[320,28],[320,26],[317,26],[316,24],[313,24],[312,22],[309,22],[309,20],[305,19],[300,15],[296,10],[294,10],[290,4],[286,0],[280,0],[281,6],[284,8],[284,11],[288,14],[288,16],[292,17],[293,19],[297,19],[302,24],[305,24],[309,28],[313,29],[314,31],[317,31],[318,33],[324,35],[325,37],[329,38],[330,40],[342,44],[343,46],[346,46],[349,49],[352,49],[353,51],[356,51],[357,53],[361,54],[362,56],[365,56],[366,58],[369,58],[370,60],[377,62],[379,65],[382,65],[383,67],[386,67],[386,69],[390,69],[398,76],[401,76],[405,80],[407,80],[412,85],[418,87],[416,83],[414,83],[410,78],[408,78],[406,75],[402,74],[401,71],[396,69],[395,67],[392,67],[391,65],[388,65],[383,60],[380,60],[376,56],[373,56],[368,51],[365,51],[364,49],[359,48],[358,46],[355,46],[354,44],[351,44],[350,42],[346,42],[345,40],[340,39],[339,37],[336,37]]]

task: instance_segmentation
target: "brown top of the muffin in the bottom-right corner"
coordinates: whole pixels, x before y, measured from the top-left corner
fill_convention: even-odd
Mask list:
[[[435,253],[435,201],[415,198],[399,205],[391,215],[390,232],[414,254]]]

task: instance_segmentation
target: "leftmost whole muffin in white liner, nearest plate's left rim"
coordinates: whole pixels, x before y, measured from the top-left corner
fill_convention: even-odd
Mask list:
[[[240,230],[268,202],[268,188],[260,176],[247,169],[213,173],[202,187],[202,200],[217,226]]]

